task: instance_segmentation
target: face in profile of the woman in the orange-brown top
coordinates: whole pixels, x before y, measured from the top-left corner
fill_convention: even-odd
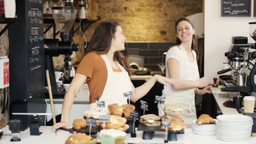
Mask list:
[[[120,26],[116,27],[116,32],[111,41],[112,51],[123,51],[125,49],[125,36],[123,35],[122,28]]]

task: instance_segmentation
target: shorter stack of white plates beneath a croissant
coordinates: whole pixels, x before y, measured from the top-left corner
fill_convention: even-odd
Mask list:
[[[215,122],[217,121],[214,119]],[[216,124],[203,124],[203,125],[197,125],[195,122],[197,120],[194,120],[191,127],[192,132],[199,135],[215,135],[216,134]]]

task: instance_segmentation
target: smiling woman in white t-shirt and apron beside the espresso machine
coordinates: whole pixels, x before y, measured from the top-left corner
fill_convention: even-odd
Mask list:
[[[208,78],[200,78],[195,50],[197,40],[193,24],[186,18],[180,18],[175,23],[176,45],[166,54],[166,77],[171,78],[173,84],[164,85],[163,96],[165,104],[168,102],[182,105],[183,120],[192,123],[195,120],[195,93],[211,93]],[[199,89],[203,88],[203,89]],[[163,105],[159,105],[159,115],[164,115]]]

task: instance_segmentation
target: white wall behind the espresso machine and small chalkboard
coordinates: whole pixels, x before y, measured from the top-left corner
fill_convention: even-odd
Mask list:
[[[217,77],[217,72],[222,69],[222,63],[227,62],[224,53],[229,51],[232,45],[232,36],[245,36],[248,37],[248,43],[255,43],[250,37],[248,22],[256,21],[256,17],[221,17],[221,0],[205,0],[204,8],[204,74],[212,79]],[[253,14],[253,7],[251,13]]]

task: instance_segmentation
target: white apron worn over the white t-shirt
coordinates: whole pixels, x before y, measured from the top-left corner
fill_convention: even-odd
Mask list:
[[[179,45],[181,49],[184,60],[185,60],[185,77],[182,78],[183,80],[198,80],[199,71],[196,61],[196,55],[193,52],[194,61],[191,62],[187,58],[187,53],[185,51],[184,46],[181,44]],[[183,120],[185,123],[192,123],[193,120],[197,118],[196,111],[195,111],[195,88],[187,89],[187,90],[177,90],[165,96],[165,104],[168,102],[179,102],[182,104],[182,115]],[[159,115],[163,116],[163,104],[158,105]]]

